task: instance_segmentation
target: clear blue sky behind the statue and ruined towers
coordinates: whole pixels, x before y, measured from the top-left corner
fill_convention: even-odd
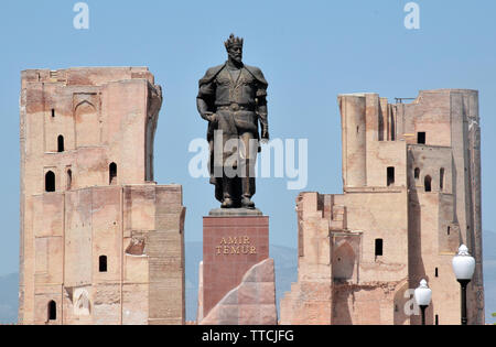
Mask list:
[[[478,89],[483,228],[496,230],[495,1],[419,0],[417,31],[403,26],[407,0],[88,0],[88,31],[73,28],[76,2],[0,3],[0,274],[18,271],[20,72],[149,66],[165,96],[155,180],[184,186],[186,240],[201,240],[202,216],[218,204],[206,180],[188,176],[187,147],[205,135],[197,80],[225,61],[223,42],[231,32],[245,37],[245,62],[261,67],[270,83],[271,135],[309,139],[305,191],[342,192],[337,94],[374,91],[391,100],[419,89]],[[271,242],[296,247],[299,192],[276,178],[259,180],[258,192],[256,203],[271,217]]]

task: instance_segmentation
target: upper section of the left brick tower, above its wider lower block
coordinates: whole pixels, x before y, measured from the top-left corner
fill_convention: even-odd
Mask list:
[[[45,73],[22,73],[21,142],[25,143],[21,143],[21,154],[25,167],[21,175],[25,194],[45,192],[47,171],[55,174],[57,191],[67,188],[68,170],[71,188],[109,185],[111,163],[117,166],[117,180],[111,184],[150,181],[147,166],[151,166],[152,153],[147,153],[147,143],[153,140],[154,130],[144,129],[155,128],[162,101],[160,86],[143,78],[152,79],[151,74],[144,68],[116,68],[110,74],[114,79],[98,85],[89,78],[105,76],[106,68],[61,71],[57,79]],[[88,76],[83,79],[85,73]]]

